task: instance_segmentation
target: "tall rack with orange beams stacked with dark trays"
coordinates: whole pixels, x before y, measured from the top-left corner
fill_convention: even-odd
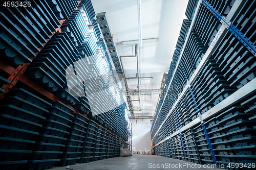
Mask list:
[[[19,12],[20,18],[14,15],[16,12]],[[8,156],[11,153],[19,153],[18,158],[15,157],[9,161],[7,161],[9,158],[0,160],[3,168],[39,169],[43,167],[47,169],[52,167],[55,162],[64,166],[76,162],[85,163],[119,156],[120,144],[128,143],[128,134],[131,134],[130,130],[127,130],[126,106],[120,105],[106,113],[93,116],[86,97],[79,97],[78,100],[78,97],[72,96],[72,94],[69,99],[59,95],[62,89],[66,87],[64,83],[59,83],[61,81],[64,82],[59,79],[61,77],[61,64],[69,65],[68,63],[71,63],[71,60],[72,62],[82,60],[82,56],[89,56],[87,53],[91,51],[95,51],[100,56],[100,58],[95,57],[94,61],[91,61],[95,65],[90,65],[86,62],[79,62],[79,64],[84,66],[83,68],[94,67],[94,73],[100,70],[105,74],[109,74],[108,79],[113,76],[109,54],[105,51],[106,47],[103,39],[100,38],[101,32],[96,20],[93,20],[95,13],[91,1],[72,0],[65,2],[59,0],[56,1],[56,4],[54,1],[33,1],[31,6],[26,8],[13,7],[13,10],[2,8],[1,15],[3,16],[1,19],[2,34],[0,35],[1,50],[7,56],[3,54],[5,57],[0,59],[0,102],[1,107],[4,109],[4,114],[1,114],[1,116],[6,119],[6,123],[2,122],[0,128],[1,131],[6,131],[6,134],[10,136],[12,133],[15,134],[17,132],[29,134],[25,140],[22,135],[12,138],[3,136],[5,134],[1,133],[2,136],[0,138],[3,144],[1,154],[5,153]],[[9,17],[12,17],[12,20],[9,20]],[[78,31],[78,28],[82,31]],[[89,29],[90,32],[88,31]],[[12,38],[8,39],[8,37]],[[63,60],[60,57],[58,61],[57,59],[55,61],[54,57],[57,58],[56,56],[52,57],[52,60],[44,60],[44,57],[48,57],[51,52],[57,51],[60,47],[62,51],[60,50],[58,54],[56,53],[56,56],[61,56],[62,53],[65,53],[62,56]],[[51,51],[51,49],[54,50]],[[99,59],[102,59],[102,61]],[[52,64],[53,62],[55,63]],[[41,79],[41,82],[31,78],[40,63],[46,65],[46,67],[39,65],[39,68],[46,69],[45,75],[48,75],[48,77]],[[65,68],[63,69],[65,72]],[[76,74],[80,74],[81,72],[79,71],[76,70]],[[52,72],[56,75],[52,74]],[[91,76],[92,74],[90,75],[88,72],[87,70],[84,75]],[[63,77],[66,75],[63,74]],[[104,78],[95,80],[95,82],[105,82]],[[116,82],[115,78],[112,79],[112,82]],[[49,83],[47,84],[44,81],[49,81]],[[109,84],[104,85],[107,86]],[[56,89],[51,90],[52,88],[59,89],[57,91]],[[101,90],[97,84],[93,88]],[[118,90],[119,87],[116,86],[116,88]],[[17,94],[22,98],[27,95],[26,98],[17,98],[15,91],[19,91]],[[114,99],[114,97],[113,101],[121,104],[122,99]],[[11,106],[15,104],[14,100],[10,100],[13,98],[22,101],[22,105]],[[80,103],[78,105],[75,104],[78,101]],[[11,105],[8,102],[11,102]],[[16,104],[18,105],[19,103],[16,102]],[[105,103],[102,104],[104,105]],[[33,107],[34,110],[30,107]],[[16,109],[19,112],[9,111],[6,108]],[[96,111],[99,111],[97,109]],[[44,113],[39,115],[39,112],[41,113],[42,111]],[[9,115],[14,113],[17,114],[17,117]],[[24,117],[22,113],[24,115],[30,114],[30,116],[26,117],[26,115]],[[110,115],[114,115],[115,120],[119,120],[119,123],[115,124],[116,122],[109,117]],[[37,118],[33,119],[33,116]],[[11,124],[11,122],[16,124]],[[31,131],[28,129],[28,125],[30,125]],[[32,128],[35,127],[39,127],[39,129],[33,132]],[[49,143],[46,140],[49,140]],[[11,148],[20,145],[20,149],[10,150],[5,148],[4,141],[7,141]],[[29,144],[26,147],[26,144],[23,143]],[[47,149],[35,151],[32,145],[38,145],[40,149],[42,149],[43,145],[49,145],[48,147],[52,147],[52,149],[48,148],[51,151],[46,151]],[[89,149],[91,150],[89,151]],[[106,155],[108,149],[111,152]],[[105,151],[105,153],[102,153],[101,150],[102,152]],[[47,154],[49,157],[46,156]]]

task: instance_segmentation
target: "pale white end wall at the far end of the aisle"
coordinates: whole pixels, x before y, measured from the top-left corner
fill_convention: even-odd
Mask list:
[[[135,147],[137,150],[139,149],[147,149],[150,150],[151,148],[151,124],[150,119],[132,119],[132,147]]]

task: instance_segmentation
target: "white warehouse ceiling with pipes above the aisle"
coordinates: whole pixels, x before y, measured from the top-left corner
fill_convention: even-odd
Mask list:
[[[187,3],[188,0],[141,0],[142,39],[158,38],[157,42],[143,43],[140,48],[139,77],[152,77],[140,79],[141,90],[160,89],[174,54]],[[118,55],[135,55],[135,45],[121,42],[139,39],[137,0],[92,0],[92,4],[96,14],[106,12]],[[136,77],[136,58],[122,58],[122,61],[126,78]],[[127,84],[130,89],[137,89],[138,81],[127,79]],[[135,115],[154,116],[159,94],[153,92],[140,98],[141,110],[135,111]],[[138,100],[138,95],[132,95],[132,100]],[[137,110],[139,102],[133,102],[133,106]]]

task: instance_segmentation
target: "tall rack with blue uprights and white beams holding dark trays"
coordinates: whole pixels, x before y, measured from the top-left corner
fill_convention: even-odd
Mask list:
[[[252,7],[253,4],[254,2],[240,1],[240,0],[237,0],[234,3],[231,1],[227,1],[227,2],[189,1],[186,15],[187,15],[187,18],[191,20],[190,27],[185,36],[186,39],[184,41],[183,47],[180,48],[177,43],[178,46],[176,47],[182,50],[180,54],[179,54],[179,50],[177,50],[174,54],[174,57],[173,57],[174,64],[173,63],[171,64],[168,72],[168,77],[172,77],[172,78],[170,78],[170,80],[167,81],[166,88],[164,88],[163,90],[163,93],[158,105],[156,117],[154,119],[154,123],[151,129],[152,140],[154,140],[155,142],[154,147],[158,153],[163,152],[162,150],[166,150],[166,147],[163,148],[163,143],[171,140],[172,141],[171,145],[173,145],[174,141],[177,142],[178,140],[177,137],[180,136],[181,144],[183,143],[183,145],[185,145],[185,147],[183,147],[183,153],[185,157],[181,157],[181,156],[179,157],[169,156],[169,157],[174,157],[174,158],[183,159],[183,160],[187,159],[191,162],[196,162],[201,164],[215,163],[218,165],[219,163],[226,163],[226,165],[228,165],[228,163],[230,162],[235,162],[235,163],[239,162],[245,165],[246,163],[255,163],[255,158],[256,158],[255,153],[249,152],[247,150],[247,148],[253,148],[252,150],[253,151],[255,150],[255,145],[253,144],[253,142],[250,144],[248,143],[248,146],[247,144],[242,145],[243,147],[240,149],[242,149],[244,152],[237,152],[237,149],[239,148],[236,146],[238,146],[239,144],[237,143],[236,145],[236,142],[232,143],[232,140],[231,140],[237,137],[237,138],[240,138],[241,140],[249,142],[249,140],[253,139],[254,137],[253,133],[255,133],[255,131],[253,130],[253,127],[247,127],[248,130],[251,131],[251,134],[247,135],[247,136],[251,136],[249,138],[244,137],[243,135],[246,136],[246,134],[244,134],[243,132],[240,133],[240,136],[232,136],[232,133],[231,133],[231,131],[233,131],[232,129],[230,129],[230,132],[229,131],[227,132],[227,130],[225,130],[225,126],[230,124],[228,122],[225,123],[225,121],[228,121],[228,119],[226,118],[228,115],[233,114],[234,117],[238,118],[241,114],[245,116],[245,117],[243,116],[241,117],[242,121],[245,121],[245,122],[247,121],[248,123],[252,123],[253,121],[253,116],[251,118],[246,117],[248,111],[242,111],[242,113],[239,113],[239,114],[236,114],[236,112],[232,113],[232,111],[229,111],[229,109],[232,106],[241,106],[241,105],[245,106],[244,104],[246,102],[244,101],[246,100],[251,101],[250,99],[252,98],[253,94],[255,94],[255,91],[256,91],[256,85],[255,85],[256,78],[254,73],[255,68],[253,64],[249,66],[248,61],[245,61],[245,59],[242,60],[241,58],[243,57],[243,55],[242,57],[238,57],[239,55],[241,55],[242,52],[241,53],[237,53],[235,51],[231,52],[232,49],[237,47],[237,46],[233,47],[232,45],[234,45],[234,43],[239,44],[238,47],[243,47],[242,48],[244,49],[243,52],[245,52],[245,54],[248,55],[248,57],[251,56],[249,57],[249,59],[251,59],[252,63],[254,62],[253,58],[255,57],[255,43],[254,43],[255,30],[252,29],[253,21],[252,23],[249,22],[253,17],[255,17],[255,13],[252,12],[255,10]],[[251,11],[251,13],[248,11]],[[212,19],[211,22],[208,20],[209,23],[202,23],[200,22],[199,19],[197,19],[199,17],[203,18],[204,15],[206,14],[209,16],[208,18]],[[247,18],[246,19],[247,23],[244,21],[245,18]],[[241,20],[241,19],[244,19],[244,20]],[[210,33],[209,32],[210,28],[208,28],[207,25],[212,25],[213,27],[213,24],[215,24],[214,27],[217,29],[218,32],[217,31],[213,32],[211,29],[212,32]],[[218,26],[218,24],[220,27]],[[183,25],[184,25],[184,22],[183,22]],[[183,25],[182,25],[182,30],[184,30]],[[202,29],[200,30],[200,27],[204,30]],[[182,33],[182,30],[181,30],[181,36],[184,36],[184,31]],[[191,37],[193,36],[195,31],[196,31],[196,34],[199,35],[199,38],[202,40],[202,43],[205,46],[208,46],[208,48],[206,48],[207,51],[204,52],[204,56],[201,58],[200,62],[196,65],[196,67],[189,68],[190,70],[192,68],[194,69],[193,74],[191,74],[188,72],[189,69],[187,67],[189,66],[189,64],[187,64],[187,62],[190,62],[190,65],[192,63],[191,63],[191,60],[187,58],[187,53],[189,50],[191,50],[191,47],[193,47],[193,46],[189,46],[189,42],[191,41]],[[210,36],[212,37],[211,39],[209,39]],[[229,42],[227,41],[228,37],[230,40],[232,39],[231,44],[228,44]],[[179,41],[180,40],[178,40],[178,42]],[[226,45],[225,46],[226,48],[224,47],[224,45]],[[227,45],[230,45],[230,46],[227,47]],[[230,51],[227,52],[228,50]],[[234,54],[234,55],[230,56],[230,58],[224,57],[225,55],[229,57],[228,55],[230,54]],[[236,58],[236,55],[237,55],[237,58]],[[229,61],[230,63],[228,63]],[[215,66],[216,63],[217,63],[217,67]],[[240,74],[238,76],[238,74],[242,71],[239,70],[238,64],[236,65],[236,63],[239,63],[241,69],[244,69],[242,73],[244,75]],[[176,64],[176,67],[174,67],[175,64]],[[249,67],[246,68],[246,66],[249,66]],[[231,67],[234,67],[234,68],[231,68]],[[207,70],[208,72],[206,72]],[[212,74],[210,72],[211,70],[214,70],[215,73]],[[230,70],[233,72],[231,72]],[[236,74],[236,71],[239,71],[239,73]],[[217,77],[216,76],[210,77],[211,74],[217,75]],[[251,78],[248,78],[249,74],[251,75]],[[206,75],[206,77],[204,77],[204,75]],[[178,79],[176,78],[177,76],[179,77]],[[234,76],[237,76],[237,77],[234,77]],[[222,78],[219,79],[218,77],[219,78],[224,77],[223,80],[225,80],[226,82],[222,81],[223,83],[221,83],[218,86],[217,83],[221,82],[220,80],[222,79]],[[215,82],[211,82],[213,84],[211,86],[210,84],[207,86],[207,81],[205,81],[204,79],[206,80],[208,79],[208,81],[214,80]],[[173,102],[172,101],[169,102],[168,91],[173,90],[172,83],[176,82],[177,80],[179,80],[179,83],[184,82],[183,83],[185,84],[183,86],[184,88],[182,89],[181,92],[179,92],[178,94],[175,94],[175,96],[172,96],[172,98],[174,99]],[[201,82],[202,80],[204,80],[205,82]],[[225,84],[228,84],[228,86],[225,86]],[[202,87],[200,88],[200,86],[203,86],[203,87],[206,86],[208,89],[223,88],[224,91],[222,90],[222,91],[215,91],[215,92],[208,93],[207,92],[208,89],[206,89],[206,91],[202,91],[203,89]],[[237,87],[237,89],[235,87]],[[201,92],[200,92],[200,89],[201,89]],[[222,96],[221,94],[223,94],[224,92],[226,92],[225,96]],[[207,98],[205,98],[204,96],[206,96]],[[212,99],[215,99],[215,100],[212,100]],[[207,100],[212,101],[214,103],[210,104]],[[182,103],[185,103],[185,102],[187,106],[184,107]],[[167,113],[166,111],[163,111],[164,110],[163,106],[165,105],[165,103],[168,103],[168,105],[171,106],[171,109],[167,110]],[[206,108],[207,106],[208,108]],[[254,105],[250,103],[249,105],[247,105],[247,107],[253,108]],[[177,111],[177,108],[179,109],[185,108],[185,110]],[[245,109],[246,108],[244,108],[244,110]],[[178,112],[178,115],[177,115],[177,112]],[[215,119],[215,117],[217,117],[220,114],[224,116],[221,118],[223,123],[210,122],[210,120]],[[190,116],[189,117],[190,120],[185,118],[181,119],[182,116],[184,117]],[[175,122],[173,122],[175,119],[177,119],[178,121],[178,126],[177,125],[175,126]],[[239,122],[239,120],[236,120],[236,121]],[[241,128],[239,123],[237,123],[238,128]],[[219,128],[219,130],[221,131],[222,133],[221,136],[220,134],[216,134],[215,132],[216,128],[215,129],[211,128],[213,124],[218,124],[216,128],[217,129]],[[224,126],[224,127],[221,128],[220,126]],[[226,128],[229,128],[229,127],[226,127]],[[166,135],[163,135],[163,134],[166,134]],[[191,136],[190,134],[193,134],[193,135]],[[222,139],[222,137],[227,139]],[[232,144],[229,146],[224,146],[227,143],[227,141],[221,142],[221,140],[228,140],[228,143],[232,143]],[[217,142],[217,141],[220,141],[220,142]],[[191,143],[194,143],[194,145],[192,145]],[[220,146],[219,143],[225,143],[225,144]],[[222,147],[222,149],[220,149],[220,147]],[[176,149],[176,151],[178,150]],[[236,160],[234,160],[232,157],[236,158]]]

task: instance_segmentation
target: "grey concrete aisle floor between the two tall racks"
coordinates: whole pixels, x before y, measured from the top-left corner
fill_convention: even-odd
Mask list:
[[[152,163],[152,164],[150,164]],[[162,167],[161,167],[161,164]],[[184,164],[182,168],[182,164]],[[189,165],[191,167],[189,168]],[[158,167],[159,166],[159,167]],[[175,167],[176,166],[176,167]],[[192,168],[195,166],[194,168]],[[157,155],[133,155],[130,157],[116,157],[110,159],[98,160],[95,162],[82,163],[70,165],[70,170],[128,170],[128,169],[214,169],[210,168],[199,168],[198,164],[182,161],[178,159],[166,158]],[[66,166],[63,167],[53,167],[51,170],[65,170]],[[215,168],[220,169],[220,168]]]

